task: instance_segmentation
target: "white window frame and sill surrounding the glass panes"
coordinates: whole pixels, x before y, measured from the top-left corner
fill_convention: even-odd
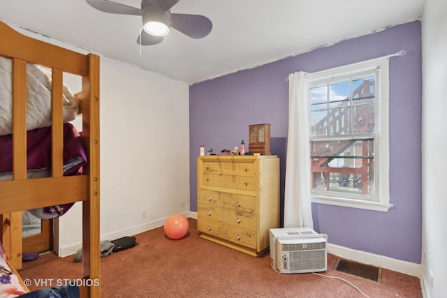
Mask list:
[[[376,124],[374,125],[374,183],[376,191],[374,198],[364,196],[362,199],[335,197],[321,194],[318,191],[311,192],[311,200],[314,203],[331,204],[343,207],[353,207],[374,211],[386,212],[393,204],[390,204],[389,190],[389,61],[388,57],[322,70],[310,73],[310,85],[321,84],[342,77],[354,77],[367,71],[376,72]],[[379,87],[379,88],[378,88]],[[336,137],[336,136],[335,136]],[[311,137],[312,138],[312,137]],[[310,145],[310,142],[309,142]],[[310,156],[309,156],[310,158]],[[310,171],[310,169],[309,169]]]

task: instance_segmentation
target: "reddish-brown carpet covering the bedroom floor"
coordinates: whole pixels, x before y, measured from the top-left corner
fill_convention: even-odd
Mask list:
[[[372,281],[337,271],[339,258],[331,254],[325,276],[280,274],[268,253],[254,258],[200,238],[192,218],[179,240],[168,239],[163,227],[134,236],[138,246],[101,258],[101,297],[423,297],[416,276],[382,269]],[[80,278],[81,270],[73,256],[46,253],[19,272],[36,290]]]

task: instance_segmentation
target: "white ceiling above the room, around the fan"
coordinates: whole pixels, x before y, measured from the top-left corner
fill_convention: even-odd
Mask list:
[[[140,8],[140,0],[115,2]],[[0,20],[193,84],[416,20],[424,3],[182,0],[171,13],[205,15],[211,33],[192,39],[173,29],[162,43],[142,47],[140,17],[102,13],[84,0],[1,0]]]

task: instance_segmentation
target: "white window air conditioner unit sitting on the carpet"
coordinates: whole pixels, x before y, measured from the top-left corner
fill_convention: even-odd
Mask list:
[[[327,236],[311,228],[270,229],[272,267],[281,273],[328,269]]]

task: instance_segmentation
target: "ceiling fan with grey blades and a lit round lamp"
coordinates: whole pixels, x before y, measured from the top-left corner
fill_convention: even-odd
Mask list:
[[[170,13],[170,8],[180,0],[142,0],[141,8],[108,0],[86,1],[89,6],[101,10],[103,13],[139,15],[142,18],[143,30],[137,38],[138,45],[161,43],[163,36],[169,33],[170,28],[194,39],[204,38],[212,29],[211,20],[203,15]]]

